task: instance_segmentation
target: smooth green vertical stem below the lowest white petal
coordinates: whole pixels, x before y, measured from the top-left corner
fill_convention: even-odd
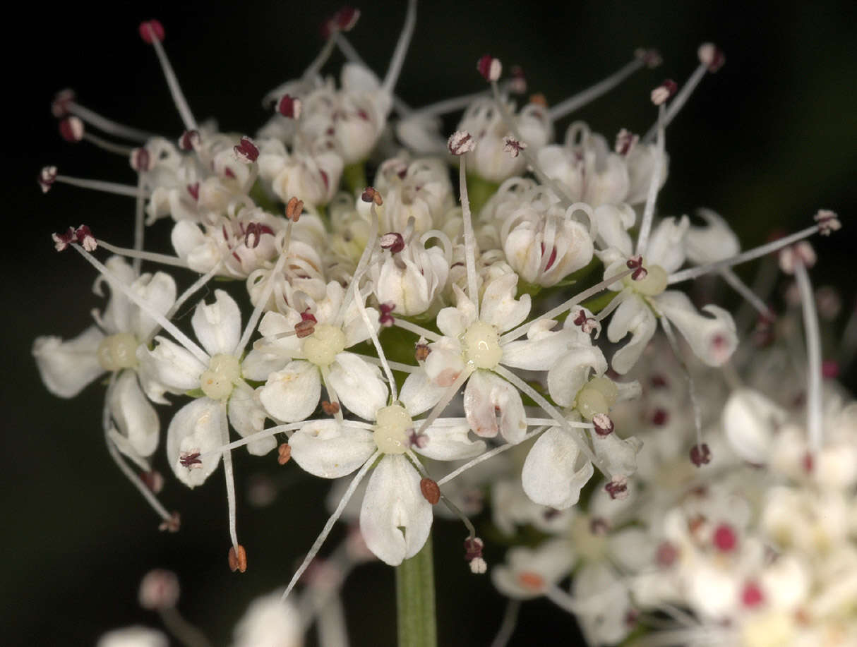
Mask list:
[[[434,560],[431,535],[410,560],[396,566],[399,647],[436,647]]]

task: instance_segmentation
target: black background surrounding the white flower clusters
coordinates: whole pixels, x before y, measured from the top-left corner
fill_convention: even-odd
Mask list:
[[[229,546],[223,478],[189,491],[165,472],[163,500],[183,516],[177,535],[159,533],[153,513],[124,481],[99,429],[103,389],[73,401],[52,398],[30,356],[39,334],[70,337],[101,306],[94,275],[75,255],[57,255],[51,231],[86,222],[107,240],[130,243],[133,202],[57,185],[41,195],[41,166],[80,177],[133,182],[127,163],[57,135],[53,93],[74,87],[81,103],[120,122],[177,136],[182,130],[151,48],[137,36],[141,19],[165,25],[165,47],[196,117],[217,117],[224,130],[252,133],[267,117],[261,96],[299,75],[321,46],[318,26],[337,3],[183,3],[146,8],[114,3],[109,13],[76,4],[30,3],[7,23],[3,146],[3,501],[4,566],[0,578],[3,644],[93,644],[101,632],[153,614],[136,605],[141,575],[155,566],[182,579],[183,612],[215,644],[225,644],[247,602],[282,585],[309,548],[327,513],[326,488],[278,469],[272,457],[237,452],[239,492],[257,471],[282,481],[272,506],[239,505],[249,571],[226,567]],[[404,3],[363,7],[351,41],[383,75]],[[612,138],[641,131],[654,111],[651,87],[679,83],[696,66],[700,42],[726,52],[726,66],[707,77],[668,130],[664,213],[706,206],[740,231],[746,247],[776,229],[809,224],[819,207],[842,217],[843,231],[819,240],[818,282],[836,285],[854,303],[854,183],[857,151],[857,8],[824,3],[527,3],[424,2],[397,91],[412,105],[481,89],[476,59],[491,52],[524,67],[530,92],[550,103],[608,75],[639,45],[656,46],[664,64],[635,75],[578,118]],[[326,70],[338,70],[339,58]],[[566,122],[560,123],[558,136]],[[165,223],[152,240],[165,245]],[[186,280],[180,279],[180,280]],[[183,284],[186,285],[186,284]],[[853,372],[846,374],[853,383]],[[435,525],[438,618],[442,645],[488,644],[503,600],[488,578],[470,577],[461,561],[458,526]],[[331,543],[333,546],[333,542]],[[367,593],[370,591],[371,595]],[[395,640],[393,573],[364,566],[345,587],[352,644]],[[575,644],[572,620],[548,602],[524,604],[512,644],[552,636]]]

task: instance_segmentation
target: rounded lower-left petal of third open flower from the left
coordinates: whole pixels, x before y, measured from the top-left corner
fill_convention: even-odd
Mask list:
[[[321,398],[321,374],[315,364],[296,360],[272,373],[259,392],[267,412],[277,420],[296,422],[309,416]]]

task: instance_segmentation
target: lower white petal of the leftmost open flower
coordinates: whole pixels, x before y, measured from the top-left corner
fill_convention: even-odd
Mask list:
[[[111,416],[119,431],[140,456],[151,456],[158,446],[158,412],[143,395],[134,371],[123,371],[110,392]]]

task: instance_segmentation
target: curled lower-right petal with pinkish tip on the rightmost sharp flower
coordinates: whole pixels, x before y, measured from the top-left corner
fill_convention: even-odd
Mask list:
[[[655,297],[657,308],[678,328],[687,343],[704,363],[722,366],[738,346],[735,322],[732,315],[715,305],[703,310],[711,317],[704,317],[693,307],[684,292],[666,291]]]

